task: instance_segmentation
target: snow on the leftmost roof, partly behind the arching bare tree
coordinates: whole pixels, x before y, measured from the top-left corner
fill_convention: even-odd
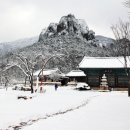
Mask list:
[[[38,76],[38,74],[40,73],[40,71],[41,71],[41,70],[36,71],[33,75],[34,75],[34,76]],[[51,75],[51,74],[54,74],[54,73],[56,73],[56,72],[58,72],[58,71],[59,71],[59,73],[61,73],[58,68],[44,69],[44,70],[43,70],[43,75],[46,75],[46,76],[47,76],[47,75]],[[62,74],[62,73],[61,73],[61,74]],[[40,75],[42,75],[42,73],[41,73]]]

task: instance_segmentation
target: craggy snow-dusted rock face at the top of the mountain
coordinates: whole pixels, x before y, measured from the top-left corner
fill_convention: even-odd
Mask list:
[[[95,38],[95,33],[89,30],[84,20],[76,19],[74,15],[69,14],[63,16],[58,24],[51,23],[46,31],[42,31],[39,36],[39,41],[42,41],[45,37],[61,35],[77,35],[85,38],[87,41]]]

